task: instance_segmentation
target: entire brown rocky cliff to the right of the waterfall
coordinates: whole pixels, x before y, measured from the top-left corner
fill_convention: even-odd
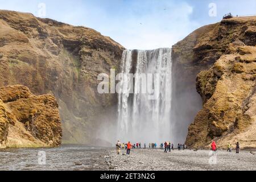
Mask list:
[[[228,142],[256,147],[255,45],[256,17],[251,16],[201,27],[173,46],[174,94],[193,96],[197,90],[203,101],[203,109],[188,128],[189,147],[209,147],[212,140],[218,147]],[[192,101],[198,103],[196,96]],[[177,107],[200,109],[185,104]]]

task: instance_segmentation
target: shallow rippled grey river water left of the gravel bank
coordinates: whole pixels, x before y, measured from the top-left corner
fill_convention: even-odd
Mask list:
[[[9,148],[0,150],[0,170],[104,170],[109,148],[62,145],[57,148]]]

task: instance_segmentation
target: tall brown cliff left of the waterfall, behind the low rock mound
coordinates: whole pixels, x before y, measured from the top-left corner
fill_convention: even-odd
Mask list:
[[[97,76],[119,68],[123,49],[90,28],[0,10],[0,86],[55,96],[64,143],[95,143],[100,122],[110,122],[117,97],[98,94]]]

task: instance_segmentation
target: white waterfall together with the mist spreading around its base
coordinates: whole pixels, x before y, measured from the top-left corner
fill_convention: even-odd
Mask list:
[[[171,59],[171,48],[125,50],[120,67],[119,73],[123,74],[157,73],[160,78],[154,86],[159,88],[158,96],[156,100],[150,100],[148,96],[151,94],[130,93],[138,88],[138,80],[117,81],[116,86],[120,90],[117,105],[102,115],[95,138],[112,143],[112,146],[117,140],[122,143],[146,143],[147,147],[152,142],[158,146],[165,141],[175,146],[184,143],[188,126],[201,109],[202,102],[196,88],[180,81],[182,75],[177,77],[180,68]],[[130,81],[133,81],[133,90],[128,88]],[[195,81],[190,85],[196,85]]]

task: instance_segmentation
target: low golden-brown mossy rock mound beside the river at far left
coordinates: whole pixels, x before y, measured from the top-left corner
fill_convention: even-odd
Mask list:
[[[0,148],[56,147],[62,129],[57,101],[35,96],[26,86],[0,88]]]

